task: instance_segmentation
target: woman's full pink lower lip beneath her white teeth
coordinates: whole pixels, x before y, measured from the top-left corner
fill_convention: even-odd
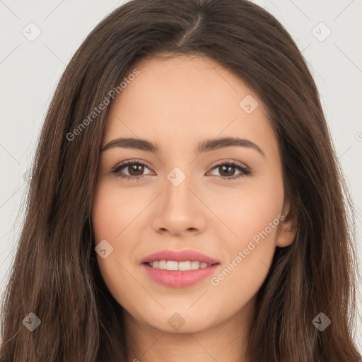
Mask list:
[[[144,268],[148,276],[158,281],[158,283],[171,288],[186,288],[187,286],[192,286],[213,274],[219,266],[220,264],[214,264],[211,267],[202,269],[177,271],[157,269],[147,264],[141,264],[141,267]]]

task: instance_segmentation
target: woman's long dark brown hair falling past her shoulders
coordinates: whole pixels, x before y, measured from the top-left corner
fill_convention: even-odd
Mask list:
[[[133,0],[78,48],[49,105],[1,310],[4,361],[127,361],[124,309],[95,257],[91,207],[110,107],[86,122],[141,59],[211,59],[255,91],[281,151],[296,238],[276,247],[257,293],[247,361],[357,362],[354,203],[313,76],[291,35],[246,0]],[[118,93],[118,92],[117,92]],[[86,127],[79,128],[81,122]],[[78,133],[75,131],[78,129]],[[72,136],[69,134],[78,134]],[[325,313],[323,332],[313,319]],[[23,325],[35,313],[41,325]]]

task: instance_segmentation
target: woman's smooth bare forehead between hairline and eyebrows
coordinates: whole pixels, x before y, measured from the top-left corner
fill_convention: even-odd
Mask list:
[[[129,74],[134,69],[139,75],[111,103],[103,145],[117,136],[151,139],[161,148],[163,139],[185,146],[238,136],[276,154],[274,132],[258,96],[220,64],[182,55],[143,59]]]

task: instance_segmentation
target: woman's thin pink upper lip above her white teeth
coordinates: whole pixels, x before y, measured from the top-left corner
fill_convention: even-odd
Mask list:
[[[155,262],[156,260],[173,260],[175,262],[186,262],[199,261],[206,264],[220,264],[220,262],[202,252],[196,250],[162,250],[160,252],[154,252],[153,254],[147,255],[141,260],[141,263]]]

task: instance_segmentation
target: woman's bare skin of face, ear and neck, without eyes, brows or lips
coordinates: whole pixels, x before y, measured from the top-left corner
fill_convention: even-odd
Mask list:
[[[126,310],[132,360],[244,361],[257,291],[276,246],[290,245],[296,234],[276,136],[257,95],[210,59],[143,59],[134,68],[139,76],[110,105],[103,146],[118,137],[134,137],[157,144],[160,151],[103,151],[92,209],[95,245],[105,239],[113,247],[109,256],[97,254],[97,259],[107,288]],[[251,114],[239,105],[246,95],[259,103]],[[224,136],[248,139],[265,156],[240,146],[195,153],[200,141]],[[119,173],[141,179],[122,180],[111,173],[126,160],[146,167],[138,173],[124,167]],[[215,167],[233,160],[252,174]],[[175,167],[186,175],[177,187],[167,178]],[[228,175],[241,177],[227,180]],[[279,214],[286,216],[284,221],[212,285],[211,277]],[[165,249],[197,250],[218,259],[221,267],[187,288],[163,286],[140,263]],[[168,324],[174,313],[185,320],[177,331]]]

